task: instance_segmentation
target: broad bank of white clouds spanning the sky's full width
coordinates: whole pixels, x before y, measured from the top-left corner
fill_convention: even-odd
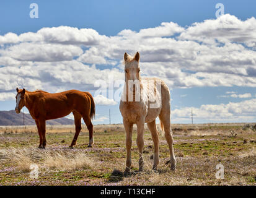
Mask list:
[[[139,51],[141,74],[170,88],[256,87],[255,24],[254,17],[226,14],[188,27],[163,22],[112,37],[67,26],[10,32],[0,35],[0,92],[17,86],[95,90],[95,80],[108,74],[123,79],[125,51]]]

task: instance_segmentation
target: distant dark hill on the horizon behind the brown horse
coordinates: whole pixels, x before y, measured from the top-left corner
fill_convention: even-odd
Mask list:
[[[22,113],[17,114],[14,110],[11,111],[0,111],[0,126],[18,126],[23,125],[23,114],[25,125],[34,125],[35,120],[30,116],[30,114]],[[74,124],[73,119],[68,118],[58,118],[58,119],[50,119],[46,121],[46,124],[54,125],[54,124]]]

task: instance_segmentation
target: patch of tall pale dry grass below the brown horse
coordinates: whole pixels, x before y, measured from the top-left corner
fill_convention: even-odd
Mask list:
[[[42,170],[74,171],[95,169],[97,161],[80,150],[1,149],[1,160],[11,162],[15,170],[29,172],[30,165]]]

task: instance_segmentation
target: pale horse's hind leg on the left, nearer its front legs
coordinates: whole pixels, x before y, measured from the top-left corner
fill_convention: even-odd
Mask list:
[[[154,142],[154,165],[152,169],[156,170],[159,163],[159,137],[156,129],[156,120],[148,123],[148,128],[151,132],[152,140]]]

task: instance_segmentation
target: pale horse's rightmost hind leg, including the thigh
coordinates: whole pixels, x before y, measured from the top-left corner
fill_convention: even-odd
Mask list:
[[[173,146],[174,139],[172,138],[172,133],[170,132],[170,108],[163,108],[159,114],[159,119],[164,125],[164,136],[166,137],[166,141],[170,149],[170,169],[175,170],[176,160]]]

